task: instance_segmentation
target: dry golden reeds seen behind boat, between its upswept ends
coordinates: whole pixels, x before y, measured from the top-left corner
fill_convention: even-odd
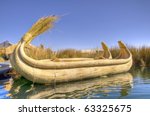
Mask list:
[[[64,49],[53,52],[50,48],[44,48],[43,45],[42,47],[33,47],[28,45],[25,47],[25,53],[29,57],[37,60],[56,58],[96,58],[102,54],[98,51],[83,53],[82,51],[75,49]]]

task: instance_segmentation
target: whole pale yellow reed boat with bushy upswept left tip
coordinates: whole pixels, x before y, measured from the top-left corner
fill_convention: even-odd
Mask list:
[[[44,17],[38,20],[31,29],[18,42],[11,54],[12,67],[26,79],[34,83],[51,84],[54,82],[68,82],[104,75],[127,72],[132,66],[132,54],[125,44],[118,42],[120,54],[112,59],[111,53],[105,43],[100,59],[94,58],[67,58],[57,61],[35,60],[25,53],[25,46],[36,36],[52,27],[56,16]]]

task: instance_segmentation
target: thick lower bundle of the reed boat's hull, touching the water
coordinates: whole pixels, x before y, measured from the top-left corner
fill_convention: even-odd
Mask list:
[[[16,62],[16,63],[15,63]],[[127,72],[132,60],[125,64],[71,69],[40,69],[26,64],[18,55],[11,57],[12,66],[26,79],[35,83],[68,82]]]

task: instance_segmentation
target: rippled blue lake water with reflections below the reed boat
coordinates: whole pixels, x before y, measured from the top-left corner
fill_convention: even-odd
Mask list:
[[[23,77],[0,78],[0,98],[150,99],[150,68],[53,85],[33,84]]]

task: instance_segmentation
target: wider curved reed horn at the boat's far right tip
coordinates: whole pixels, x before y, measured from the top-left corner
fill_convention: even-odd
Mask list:
[[[117,58],[129,58],[131,57],[131,52],[129,51],[129,49],[126,47],[126,45],[121,42],[121,41],[118,41],[118,45],[120,47],[120,54]]]

